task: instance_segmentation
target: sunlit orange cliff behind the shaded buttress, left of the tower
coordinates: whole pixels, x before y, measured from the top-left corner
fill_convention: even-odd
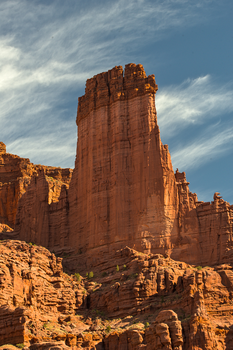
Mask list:
[[[18,201],[25,193],[31,177],[36,176],[41,169],[50,186],[48,194],[49,204],[58,201],[60,188],[63,183],[69,184],[72,169],[61,169],[34,165],[29,159],[20,158],[17,155],[6,153],[6,146],[0,142],[0,223],[14,228],[17,208],[20,208]],[[60,183],[60,188],[57,185]],[[29,204],[29,207],[31,205]]]

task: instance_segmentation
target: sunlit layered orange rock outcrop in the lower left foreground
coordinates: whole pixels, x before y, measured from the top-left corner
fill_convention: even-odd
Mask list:
[[[63,275],[61,260],[41,246],[0,242],[0,345],[42,340],[44,322],[82,305],[83,287]]]

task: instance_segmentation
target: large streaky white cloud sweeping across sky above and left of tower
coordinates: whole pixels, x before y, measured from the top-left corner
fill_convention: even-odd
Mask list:
[[[74,166],[77,98],[85,80],[129,63],[151,35],[160,40],[168,29],[206,21],[210,3],[217,2],[1,1],[0,123],[7,150]]]

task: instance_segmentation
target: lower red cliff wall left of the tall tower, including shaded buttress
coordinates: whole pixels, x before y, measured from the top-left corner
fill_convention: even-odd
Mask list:
[[[53,237],[49,226],[54,232],[67,226],[61,212],[66,210],[72,172],[69,168],[34,165],[29,159],[6,153],[6,146],[0,142],[0,231],[14,228],[15,236],[49,246]],[[60,243],[63,245],[62,238]]]

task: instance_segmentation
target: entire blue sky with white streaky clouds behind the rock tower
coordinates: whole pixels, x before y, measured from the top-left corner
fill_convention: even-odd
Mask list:
[[[93,75],[133,62],[155,74],[174,170],[233,204],[233,2],[0,2],[0,141],[33,163],[74,167],[78,97]]]

